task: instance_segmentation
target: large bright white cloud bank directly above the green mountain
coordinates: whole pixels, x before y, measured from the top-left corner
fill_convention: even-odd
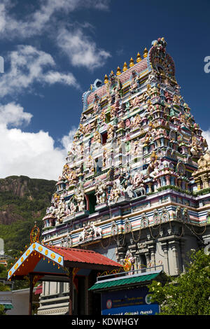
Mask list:
[[[10,103],[0,106],[0,175],[25,175],[37,179],[55,179],[62,173],[67,151],[73,140],[73,131],[62,138],[61,146],[48,132],[24,132],[17,127],[8,126],[28,124],[31,114],[24,112],[22,106]]]

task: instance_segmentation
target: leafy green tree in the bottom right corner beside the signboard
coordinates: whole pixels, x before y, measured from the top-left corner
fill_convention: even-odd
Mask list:
[[[210,255],[193,251],[185,272],[165,283],[153,281],[148,286],[151,302],[160,304],[162,315],[210,314]]]

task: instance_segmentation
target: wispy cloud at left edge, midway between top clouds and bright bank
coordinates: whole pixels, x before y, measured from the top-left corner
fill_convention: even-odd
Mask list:
[[[72,73],[52,71],[55,61],[50,54],[37,50],[31,45],[19,45],[18,50],[8,55],[10,69],[1,75],[1,97],[7,94],[18,94],[29,90],[33,83],[63,83],[78,87]],[[48,68],[50,67],[50,71]]]

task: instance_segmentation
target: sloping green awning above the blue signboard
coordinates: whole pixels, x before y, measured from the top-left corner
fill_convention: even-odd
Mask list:
[[[111,280],[106,280],[106,281],[99,281],[97,283],[94,283],[94,285],[88,289],[88,290],[101,290],[104,288],[112,288],[116,286],[125,286],[127,284],[132,284],[132,283],[141,283],[144,281],[151,281],[155,279],[156,276],[158,276],[160,272],[158,273],[153,273],[153,274],[145,274],[145,275],[139,275],[139,276],[123,276],[123,279],[111,279]]]

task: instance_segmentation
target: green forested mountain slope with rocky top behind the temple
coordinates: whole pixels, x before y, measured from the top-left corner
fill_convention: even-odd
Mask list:
[[[20,256],[29,245],[34,221],[41,229],[42,218],[55,192],[55,181],[9,176],[0,179],[0,238],[6,253]]]

